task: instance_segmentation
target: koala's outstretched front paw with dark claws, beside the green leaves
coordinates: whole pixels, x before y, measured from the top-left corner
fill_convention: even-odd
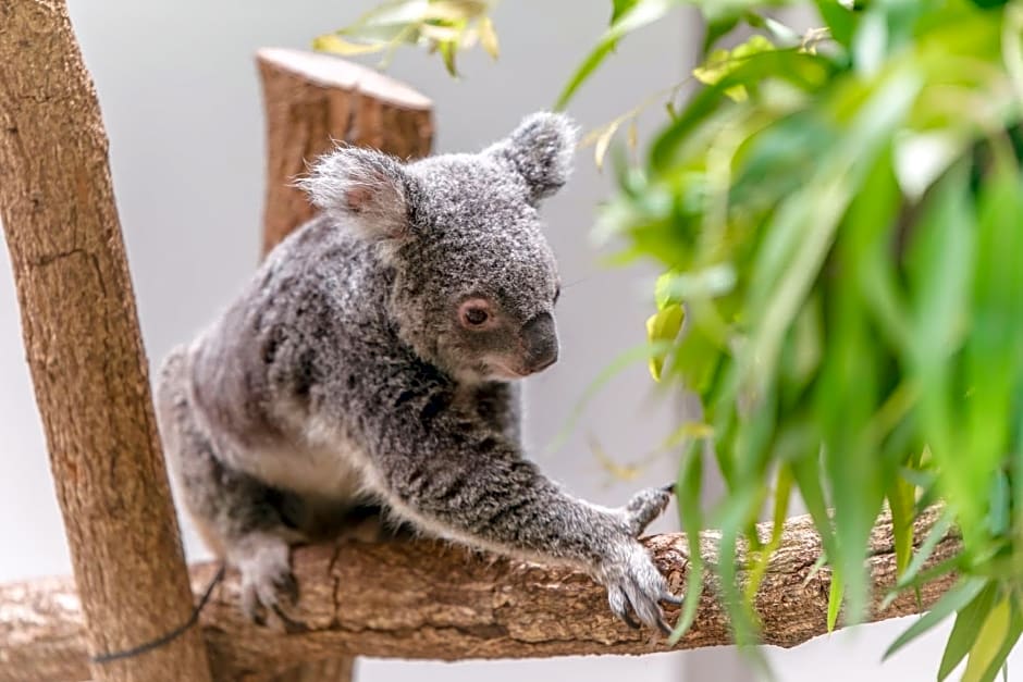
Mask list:
[[[679,605],[682,598],[668,590],[645,547],[636,541],[616,546],[600,567],[599,578],[607,587],[611,610],[630,628],[640,627],[631,616],[634,612],[643,624],[671,634],[660,603]]]

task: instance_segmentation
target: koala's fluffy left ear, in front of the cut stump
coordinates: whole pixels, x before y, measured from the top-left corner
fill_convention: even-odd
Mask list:
[[[408,232],[410,178],[400,162],[372,149],[340,147],[320,157],[296,185],[317,208],[370,239]]]

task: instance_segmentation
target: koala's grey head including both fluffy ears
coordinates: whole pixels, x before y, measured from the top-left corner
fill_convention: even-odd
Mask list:
[[[568,179],[575,135],[537,113],[476,154],[403,164],[346,147],[301,185],[394,269],[390,313],[420,357],[463,381],[519,379],[557,360],[559,282],[537,209]]]

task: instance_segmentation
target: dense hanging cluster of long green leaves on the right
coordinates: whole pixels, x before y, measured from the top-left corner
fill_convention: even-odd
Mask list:
[[[694,94],[676,108],[688,82],[657,92],[588,141],[599,165],[624,126],[638,148],[636,117],[670,102],[642,158],[614,164],[597,231],[618,262],[663,268],[646,357],[702,405],[678,446],[688,591],[713,572],[736,640],[756,643],[734,557],[766,562],[776,538],[755,523],[798,495],[834,576],[829,627],[859,622],[887,508],[888,598],[958,581],[889,654],[954,615],[938,679],[965,660],[964,680],[994,680],[1023,633],[1023,2],[617,0],[558,107],[687,4],[707,27]],[[818,28],[780,24],[779,4],[812,4]],[[740,26],[752,38],[715,50]],[[727,494],[704,508],[707,466]],[[937,500],[962,549],[924,570],[938,535],[914,551],[913,524]]]

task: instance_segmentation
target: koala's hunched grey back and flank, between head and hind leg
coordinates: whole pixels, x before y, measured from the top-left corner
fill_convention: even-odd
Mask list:
[[[380,314],[391,276],[328,218],[274,249],[176,360],[185,364],[176,381],[187,384],[182,394],[190,418],[220,462],[280,489],[358,497],[362,456],[344,417],[354,420],[365,409],[356,381],[367,355],[400,355]]]

